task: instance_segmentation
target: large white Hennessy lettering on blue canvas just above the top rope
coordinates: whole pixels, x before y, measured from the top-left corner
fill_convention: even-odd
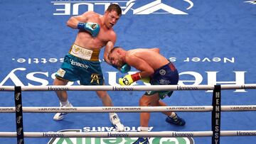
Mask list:
[[[18,73],[23,72],[23,74],[26,74],[26,79],[23,79],[23,77],[21,77]],[[225,80],[225,81],[218,81],[218,75],[221,72],[214,72],[214,71],[206,71],[206,77],[203,77],[203,74],[199,73],[199,72],[193,72],[193,71],[188,71],[188,72],[180,72],[179,76],[183,77],[183,76],[190,76],[193,77],[193,80],[191,79],[181,79],[178,81],[178,85],[182,86],[179,87],[180,89],[186,89],[183,86],[186,85],[200,85],[203,84],[203,81],[206,80],[206,84],[208,85],[215,85],[215,84],[238,84],[238,85],[244,85],[245,83],[245,75],[247,77],[250,77],[249,74],[246,74],[247,71],[233,71],[230,72],[229,74],[233,74],[234,78],[233,80]],[[133,89],[127,89],[127,88],[122,88],[122,87],[115,87],[117,86],[117,72],[106,72],[107,73],[107,77],[108,80],[106,80],[105,82],[107,82],[107,84],[110,84],[113,87],[114,91],[117,90],[133,90]],[[134,72],[128,72],[128,74],[133,74]],[[44,78],[38,77],[38,75],[43,76]],[[7,82],[11,81],[14,85],[19,85],[21,87],[23,86],[47,86],[50,85],[53,81],[53,79],[55,79],[55,72],[47,72],[47,71],[43,71],[43,72],[31,72],[29,69],[27,70],[25,67],[18,67],[15,68],[14,70],[11,70],[11,72],[9,72],[8,74],[6,74],[6,76],[4,76],[3,79],[0,79],[0,86],[5,86],[8,85]],[[28,82],[30,81],[30,82]],[[38,84],[31,84],[31,82],[38,82]],[[80,84],[80,82],[68,82],[68,85],[73,85],[73,84]],[[134,82],[134,85],[137,85],[136,82]],[[4,89],[4,88],[2,88]],[[1,89],[0,89],[1,90]],[[212,92],[212,90],[208,90],[206,92]],[[245,91],[245,89],[236,89],[234,92],[247,92]]]

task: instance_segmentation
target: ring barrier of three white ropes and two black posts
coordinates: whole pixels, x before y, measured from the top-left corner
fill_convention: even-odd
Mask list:
[[[23,144],[24,138],[137,138],[137,137],[212,137],[212,143],[220,143],[222,136],[255,136],[255,131],[220,131],[221,111],[256,111],[256,105],[221,105],[221,90],[256,89],[256,84],[222,84],[222,85],[159,85],[159,86],[2,86],[1,91],[14,92],[15,107],[0,107],[0,113],[16,113],[16,132],[0,132],[0,137],[17,138]],[[110,107],[23,107],[23,91],[181,91],[181,90],[213,90],[212,106],[110,106]],[[109,112],[212,112],[211,131],[154,131],[154,132],[24,132],[23,113],[109,113]],[[138,120],[139,121],[139,120]]]

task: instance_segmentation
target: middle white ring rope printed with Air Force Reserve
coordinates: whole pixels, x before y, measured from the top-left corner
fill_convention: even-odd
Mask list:
[[[213,106],[109,106],[109,107],[23,107],[23,113],[110,113],[110,112],[206,112]],[[15,107],[0,107],[0,113],[15,113]],[[256,111],[256,105],[221,106],[221,111]]]

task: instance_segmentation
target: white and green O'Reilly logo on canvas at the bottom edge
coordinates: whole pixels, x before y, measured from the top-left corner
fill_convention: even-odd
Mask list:
[[[92,128],[94,129],[94,128]],[[80,129],[61,130],[58,132],[68,133],[77,132],[80,133]],[[132,144],[137,138],[51,138],[48,144]],[[191,137],[187,138],[149,138],[151,144],[194,144],[194,140]]]

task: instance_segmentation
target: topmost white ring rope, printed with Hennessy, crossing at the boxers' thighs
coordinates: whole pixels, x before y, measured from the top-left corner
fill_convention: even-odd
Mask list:
[[[221,84],[221,89],[256,89],[256,84]],[[22,86],[21,91],[176,91],[213,90],[214,85],[149,85],[149,86]],[[14,91],[14,86],[0,86],[0,91]]]

